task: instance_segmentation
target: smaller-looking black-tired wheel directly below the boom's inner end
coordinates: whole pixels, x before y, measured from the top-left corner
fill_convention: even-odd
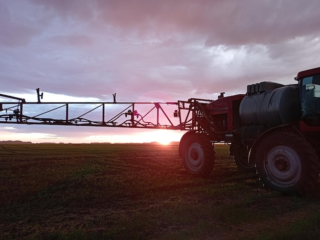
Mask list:
[[[193,176],[207,177],[213,170],[215,152],[206,134],[191,131],[181,146],[182,164]]]

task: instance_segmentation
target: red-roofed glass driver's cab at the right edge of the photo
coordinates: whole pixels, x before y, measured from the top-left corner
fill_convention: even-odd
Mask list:
[[[303,123],[309,127],[320,127],[320,68],[299,72],[296,80],[300,86]]]

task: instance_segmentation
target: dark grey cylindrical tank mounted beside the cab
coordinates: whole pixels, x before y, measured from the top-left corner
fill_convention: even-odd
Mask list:
[[[298,86],[289,85],[245,96],[239,108],[244,125],[278,126],[299,120]]]

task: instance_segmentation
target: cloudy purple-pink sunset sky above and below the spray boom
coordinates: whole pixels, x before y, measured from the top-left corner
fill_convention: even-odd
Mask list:
[[[319,67],[318,0],[0,0],[0,93],[177,101]],[[3,98],[0,98],[2,101]],[[0,141],[179,141],[184,131],[0,125]]]

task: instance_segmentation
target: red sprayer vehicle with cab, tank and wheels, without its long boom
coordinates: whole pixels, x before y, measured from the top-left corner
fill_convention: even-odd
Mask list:
[[[214,143],[231,144],[239,169],[257,171],[265,186],[286,193],[312,191],[319,176],[320,68],[299,72],[298,84],[262,82],[247,93],[201,103],[189,99],[195,128],[180,141],[185,169],[207,176]]]

